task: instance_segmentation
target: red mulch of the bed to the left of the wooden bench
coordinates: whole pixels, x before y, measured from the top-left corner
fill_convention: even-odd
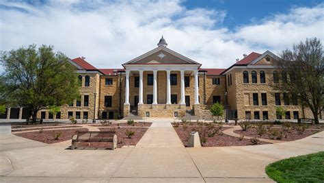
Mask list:
[[[28,138],[33,141],[39,141],[42,143],[47,144],[53,144],[53,143],[59,143],[62,141],[68,141],[72,138],[72,135],[76,132],[81,131],[88,131],[86,128],[82,129],[68,129],[68,130],[44,130],[42,133],[40,132],[25,132],[25,133],[19,133],[14,134],[16,136],[21,136],[23,138]],[[61,133],[61,136],[59,136],[58,140],[54,139],[54,136],[56,133]]]

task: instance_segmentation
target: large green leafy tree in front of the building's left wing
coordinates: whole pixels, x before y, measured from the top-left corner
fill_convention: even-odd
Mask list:
[[[40,109],[62,106],[79,95],[74,67],[53,46],[4,51],[0,64],[0,103],[29,108],[33,121]]]

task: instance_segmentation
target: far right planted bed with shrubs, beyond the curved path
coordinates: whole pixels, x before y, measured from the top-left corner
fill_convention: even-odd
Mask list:
[[[256,125],[255,127],[250,127],[246,131],[235,130],[234,132],[244,136],[272,139],[278,141],[296,141],[301,138],[310,136],[312,134],[316,134],[317,132],[321,132],[321,130],[309,129],[307,128],[307,126],[304,127],[306,129],[299,130],[302,128],[302,126],[299,127],[299,125],[295,125],[292,127],[284,127],[283,125],[264,125],[262,129],[260,128],[260,126]]]

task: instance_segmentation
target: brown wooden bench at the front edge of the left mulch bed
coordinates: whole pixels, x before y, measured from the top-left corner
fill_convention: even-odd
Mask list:
[[[116,132],[77,132],[72,136],[71,149],[78,147],[78,143],[110,143],[111,150],[117,148]]]

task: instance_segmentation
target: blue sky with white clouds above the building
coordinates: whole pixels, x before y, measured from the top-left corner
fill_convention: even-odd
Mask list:
[[[53,45],[98,68],[120,68],[168,47],[204,68],[226,68],[243,53],[279,54],[323,40],[323,1],[0,1],[0,50]],[[0,68],[1,70],[1,68]]]

